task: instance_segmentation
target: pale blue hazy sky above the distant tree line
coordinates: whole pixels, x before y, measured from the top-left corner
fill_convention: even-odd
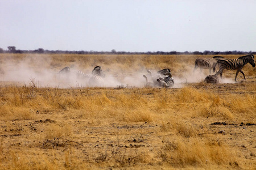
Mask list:
[[[0,0],[0,48],[256,50],[256,1]]]

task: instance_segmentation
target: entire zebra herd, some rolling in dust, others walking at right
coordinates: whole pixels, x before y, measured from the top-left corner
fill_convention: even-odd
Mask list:
[[[237,70],[235,81],[237,80],[237,74],[240,72],[243,74],[243,78],[245,79],[245,74],[242,71],[243,66],[246,63],[250,63],[253,67],[255,67],[254,56],[253,54],[242,56],[236,59],[229,59],[220,56],[215,56],[213,58],[197,58],[195,61],[194,72],[197,68],[209,69],[210,74],[216,71],[216,66],[218,65],[219,69],[216,74],[208,75],[205,79],[205,83],[220,83],[220,78],[222,78],[222,72],[224,69],[227,70]],[[76,76],[76,78],[85,80],[87,86],[102,86],[105,82],[105,74],[101,70],[100,66],[94,67],[91,74],[85,74],[82,71],[70,71],[69,67],[65,67],[60,70],[60,75],[72,75]],[[218,77],[220,75],[220,78]],[[143,75],[146,79],[145,87],[164,87],[171,88],[174,87],[174,78],[172,78],[170,69],[159,70],[156,73],[152,73],[152,71],[147,70],[147,75]]]

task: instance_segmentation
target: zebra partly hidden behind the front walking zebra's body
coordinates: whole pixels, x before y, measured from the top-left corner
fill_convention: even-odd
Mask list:
[[[221,56],[214,56],[212,58],[196,58],[195,61],[195,68],[194,71],[199,67],[200,71],[202,71],[202,69],[209,69],[210,73],[212,73],[212,69],[213,69],[213,73],[216,70],[216,65],[219,59],[224,58]]]

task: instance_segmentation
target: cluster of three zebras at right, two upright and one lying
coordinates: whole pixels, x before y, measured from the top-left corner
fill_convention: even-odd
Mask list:
[[[202,69],[209,69],[210,74],[211,70],[213,72],[216,70],[216,66],[220,68],[214,75],[208,75],[205,79],[205,83],[220,83],[220,78],[222,79],[223,70],[237,70],[235,81],[237,82],[237,75],[238,73],[242,73],[243,79],[245,79],[245,74],[242,71],[243,66],[247,63],[250,63],[251,66],[255,67],[254,56],[253,54],[249,54],[247,56],[242,56],[235,59],[224,58],[221,56],[215,56],[213,58],[197,58],[195,61],[195,68],[194,71],[199,67],[200,70]],[[220,75],[220,78],[218,77]]]

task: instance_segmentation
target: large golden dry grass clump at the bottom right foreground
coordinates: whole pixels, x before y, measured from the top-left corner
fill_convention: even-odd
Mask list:
[[[214,164],[237,163],[234,152],[227,146],[196,138],[189,139],[189,142],[182,139],[165,142],[160,157],[176,168],[209,168]]]

